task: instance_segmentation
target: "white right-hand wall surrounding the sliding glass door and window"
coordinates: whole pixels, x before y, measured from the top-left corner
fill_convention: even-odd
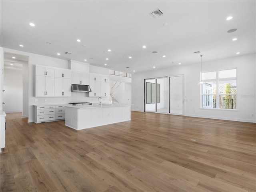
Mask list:
[[[237,109],[200,108],[200,63],[132,74],[132,110],[144,111],[144,79],[184,74],[185,116],[256,122],[256,54],[202,63],[202,71],[237,68]]]

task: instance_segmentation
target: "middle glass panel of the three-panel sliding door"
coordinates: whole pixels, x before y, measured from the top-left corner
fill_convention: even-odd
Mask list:
[[[156,79],[156,112],[168,113],[168,78]]]

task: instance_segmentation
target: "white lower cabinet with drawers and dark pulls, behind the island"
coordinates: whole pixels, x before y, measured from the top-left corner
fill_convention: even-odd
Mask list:
[[[68,105],[37,105],[34,106],[34,122],[50,122],[65,119],[65,106]]]

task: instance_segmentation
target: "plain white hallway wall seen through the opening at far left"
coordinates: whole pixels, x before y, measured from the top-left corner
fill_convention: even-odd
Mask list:
[[[22,112],[22,70],[4,69],[3,89],[4,112]]]

